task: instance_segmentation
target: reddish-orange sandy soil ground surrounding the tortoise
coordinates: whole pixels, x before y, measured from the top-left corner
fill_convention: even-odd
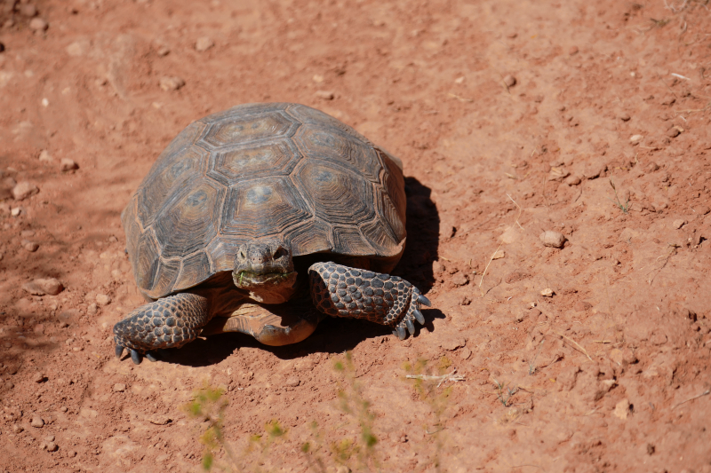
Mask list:
[[[359,438],[351,351],[383,470],[711,471],[707,2],[33,1],[0,2],[0,470],[197,471],[205,424],[180,406],[208,382],[238,468],[305,471],[310,422]],[[189,122],[256,101],[402,158],[396,273],[426,326],[115,359],[143,302],[121,210]],[[64,289],[23,288],[42,278]],[[418,360],[466,381],[423,398]],[[242,453],[274,419],[287,435]]]

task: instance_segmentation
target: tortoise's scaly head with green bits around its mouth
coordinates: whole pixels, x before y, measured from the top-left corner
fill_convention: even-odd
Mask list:
[[[282,304],[296,291],[292,246],[269,239],[244,243],[237,249],[232,280],[262,304]]]

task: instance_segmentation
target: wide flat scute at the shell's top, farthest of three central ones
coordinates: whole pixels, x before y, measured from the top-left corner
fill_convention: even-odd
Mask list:
[[[215,147],[245,145],[262,139],[292,136],[300,122],[284,112],[228,116],[210,124],[201,141]]]

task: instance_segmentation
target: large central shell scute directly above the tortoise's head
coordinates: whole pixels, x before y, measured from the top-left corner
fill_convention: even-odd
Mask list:
[[[260,238],[283,233],[310,217],[307,203],[287,177],[265,177],[230,187],[220,234]]]

